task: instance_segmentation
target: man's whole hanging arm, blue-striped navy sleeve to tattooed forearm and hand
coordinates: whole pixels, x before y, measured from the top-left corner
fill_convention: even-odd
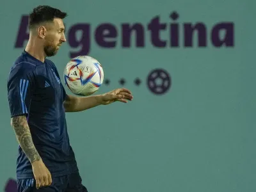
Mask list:
[[[17,141],[24,154],[31,162],[36,180],[36,188],[49,186],[52,183],[51,173],[42,161],[33,143],[27,116],[35,90],[35,66],[30,63],[19,63],[12,68],[8,77],[8,101],[11,125]]]

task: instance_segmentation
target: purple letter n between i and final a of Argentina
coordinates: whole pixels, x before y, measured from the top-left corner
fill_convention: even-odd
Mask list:
[[[198,22],[197,24],[195,24],[195,26],[192,26],[191,23],[184,24],[184,46],[193,46],[193,32],[195,30],[197,31],[198,36],[198,46],[205,47],[207,44],[206,27],[202,22]]]

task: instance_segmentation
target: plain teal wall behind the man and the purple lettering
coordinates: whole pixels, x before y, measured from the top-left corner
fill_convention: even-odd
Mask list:
[[[0,188],[15,179],[17,141],[10,126],[6,79],[23,47],[15,48],[22,15],[48,4],[68,12],[68,30],[90,24],[90,52],[100,61],[109,85],[121,87],[124,78],[134,100],[80,113],[68,113],[70,142],[76,152],[83,184],[92,192],[251,192],[256,187],[255,131],[255,1],[5,1],[1,23],[1,171]],[[203,22],[207,46],[154,47],[147,24],[159,16],[179,13],[177,23]],[[145,26],[145,47],[122,47],[121,24]],[[211,29],[218,22],[234,24],[234,46],[214,47]],[[100,47],[94,38],[99,24],[116,26],[116,47]],[[167,26],[168,26],[167,25]],[[170,43],[169,29],[161,38]],[[196,33],[195,33],[196,34]],[[81,34],[80,34],[81,36]],[[223,34],[222,34],[223,36]],[[67,36],[68,38],[68,36]],[[77,33],[79,38],[79,33]],[[124,38],[127,38],[124,36]],[[74,42],[73,42],[74,43]],[[71,42],[72,44],[72,42]],[[70,60],[70,39],[56,56],[60,74]],[[163,95],[148,89],[150,71],[163,68],[172,86]],[[140,86],[133,81],[140,77]],[[63,79],[62,79],[63,81]],[[66,89],[67,90],[67,89]],[[68,90],[67,90],[68,92]],[[70,92],[68,92],[70,93]],[[1,190],[1,189],[0,189]],[[10,192],[10,191],[9,191]]]

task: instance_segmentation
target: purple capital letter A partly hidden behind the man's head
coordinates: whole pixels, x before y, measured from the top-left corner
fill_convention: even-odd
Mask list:
[[[15,48],[21,48],[24,42],[29,39],[28,30],[28,15],[22,15],[20,19],[20,27],[15,42]]]

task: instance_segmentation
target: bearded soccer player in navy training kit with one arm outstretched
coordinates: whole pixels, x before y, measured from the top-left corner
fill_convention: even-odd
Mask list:
[[[56,8],[38,6],[29,15],[29,40],[8,77],[11,125],[19,142],[18,191],[87,191],[70,147],[65,112],[132,100],[125,88],[102,95],[67,95],[57,68],[47,57],[66,42]]]

